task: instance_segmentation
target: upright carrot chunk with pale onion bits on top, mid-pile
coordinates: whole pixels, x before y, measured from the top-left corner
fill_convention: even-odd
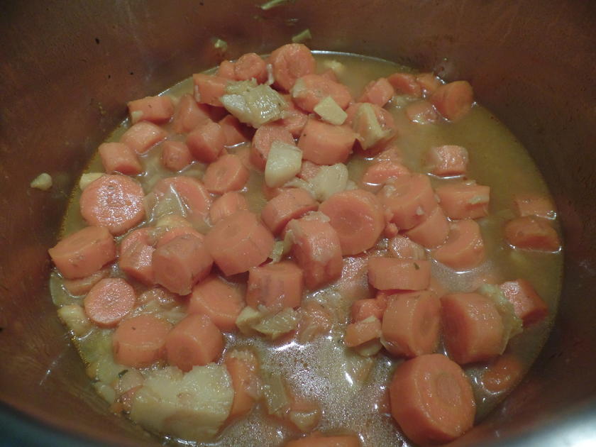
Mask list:
[[[329,222],[305,216],[289,221],[286,228],[292,232],[292,254],[304,270],[308,289],[316,289],[341,276],[341,245]]]

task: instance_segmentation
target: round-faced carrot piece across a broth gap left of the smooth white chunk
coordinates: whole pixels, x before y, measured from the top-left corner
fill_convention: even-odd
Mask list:
[[[203,182],[212,194],[239,191],[248,181],[250,172],[238,155],[222,155],[207,167]]]

